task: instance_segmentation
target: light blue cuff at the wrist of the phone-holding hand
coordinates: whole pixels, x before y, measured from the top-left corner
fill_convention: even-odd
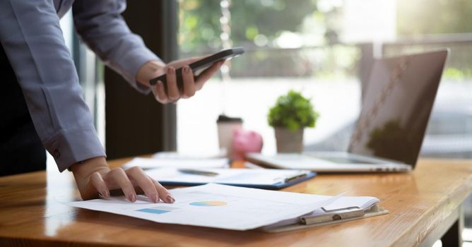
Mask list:
[[[141,68],[148,61],[161,61],[151,50],[146,47],[141,47],[133,52],[127,52],[119,61],[119,68],[123,78],[138,92],[147,95],[151,92],[151,88],[138,83],[136,75],[139,68]]]

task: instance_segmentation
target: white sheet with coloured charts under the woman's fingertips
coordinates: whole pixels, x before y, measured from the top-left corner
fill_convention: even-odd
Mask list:
[[[114,197],[67,204],[159,223],[249,230],[306,215],[339,198],[215,183],[175,188],[170,193],[175,197],[175,203],[151,203],[139,195],[135,203],[129,203],[124,197]]]

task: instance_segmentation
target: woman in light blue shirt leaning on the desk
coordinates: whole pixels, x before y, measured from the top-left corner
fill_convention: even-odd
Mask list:
[[[163,104],[194,95],[222,64],[213,64],[195,81],[186,65],[198,58],[164,64],[130,32],[120,16],[124,0],[0,1],[2,174],[45,169],[46,147],[59,171],[73,172],[84,200],[121,188],[134,202],[138,186],[154,202],[173,203],[172,195],[142,169],[108,167],[59,26],[69,8],[88,47],[132,87],[152,91]],[[175,68],[182,66],[184,90],[179,92]],[[167,92],[162,82],[148,83],[164,73]]]

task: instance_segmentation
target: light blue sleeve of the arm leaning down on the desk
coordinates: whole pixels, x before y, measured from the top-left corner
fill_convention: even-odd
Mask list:
[[[0,42],[36,131],[60,171],[105,156],[50,0],[1,0]],[[104,52],[112,54],[112,52]],[[119,63],[118,63],[119,64]],[[130,65],[119,65],[131,73]]]

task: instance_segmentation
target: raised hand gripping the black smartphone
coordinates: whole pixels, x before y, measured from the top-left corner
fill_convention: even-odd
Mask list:
[[[202,58],[203,57],[181,59],[172,61],[167,65],[161,61],[148,61],[139,69],[136,80],[138,80],[138,82],[143,85],[151,87],[153,89],[155,99],[158,100],[158,102],[163,104],[167,104],[169,102],[175,103],[181,98],[185,99],[194,96],[195,92],[200,90],[203,87],[203,84],[205,84],[206,81],[211,78],[211,76],[218,72],[220,66],[224,63],[224,61],[218,61],[203,71],[199,76],[195,77],[188,64],[191,64],[194,61],[198,61]],[[177,77],[175,75],[175,70],[177,68],[182,68],[182,79],[184,85],[182,91],[179,91],[179,88],[177,88]],[[160,80],[158,80],[158,83],[155,86],[149,85],[149,80],[163,74],[166,74],[167,92],[165,91],[163,82]]]

